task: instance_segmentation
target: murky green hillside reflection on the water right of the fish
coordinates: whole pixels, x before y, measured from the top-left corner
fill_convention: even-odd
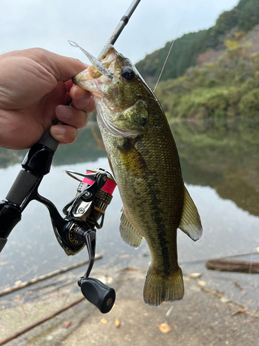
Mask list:
[[[259,215],[259,120],[173,122],[184,181]]]

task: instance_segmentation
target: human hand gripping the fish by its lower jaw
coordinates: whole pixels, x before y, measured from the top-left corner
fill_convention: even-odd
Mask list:
[[[27,149],[48,128],[59,144],[73,143],[95,109],[90,93],[71,80],[86,67],[41,48],[0,55],[0,147]],[[55,118],[66,125],[52,125]]]

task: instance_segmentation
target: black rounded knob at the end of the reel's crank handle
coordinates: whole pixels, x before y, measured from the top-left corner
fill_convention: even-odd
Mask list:
[[[78,284],[84,297],[102,313],[107,313],[115,302],[115,290],[93,277],[80,278]]]

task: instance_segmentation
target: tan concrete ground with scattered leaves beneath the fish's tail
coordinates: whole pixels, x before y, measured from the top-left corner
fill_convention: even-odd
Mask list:
[[[95,277],[98,275],[105,277],[106,271],[100,268]],[[258,311],[227,299],[224,293],[204,286],[202,277],[192,278],[188,273],[184,275],[183,300],[150,307],[144,304],[142,297],[145,275],[146,270],[141,268],[114,268],[110,286],[115,288],[117,298],[109,313],[100,313],[84,300],[6,345],[259,345]],[[60,280],[74,282],[71,273]],[[111,282],[111,277],[107,280]],[[51,284],[39,289],[43,290],[41,298],[34,302],[26,295],[21,298],[22,294],[18,298],[15,295],[12,301],[16,300],[16,304],[9,302],[9,307],[8,300],[0,302],[0,339],[81,295],[75,284],[66,284],[56,290],[50,287]],[[6,304],[4,309],[3,304]]]

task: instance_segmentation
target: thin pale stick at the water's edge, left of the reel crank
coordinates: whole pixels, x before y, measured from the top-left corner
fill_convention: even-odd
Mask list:
[[[95,261],[101,260],[102,257],[103,257],[102,255],[96,255]],[[65,268],[58,269],[57,271],[52,271],[51,273],[44,274],[39,277],[35,277],[32,280],[21,282],[20,284],[17,284],[15,286],[8,287],[7,289],[3,289],[2,291],[0,291],[0,297],[3,297],[3,295],[9,294],[9,293],[18,291],[19,289],[23,289],[24,287],[28,287],[32,284],[37,284],[38,282],[50,279],[50,277],[66,273],[67,271],[72,271],[73,269],[79,268],[79,266],[84,266],[85,264],[88,264],[88,263],[89,261],[84,261],[77,264],[73,264],[72,266],[66,266]]]

